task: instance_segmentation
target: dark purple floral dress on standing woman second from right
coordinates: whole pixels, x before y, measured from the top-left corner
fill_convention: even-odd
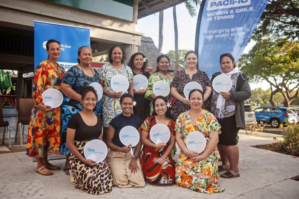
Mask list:
[[[195,74],[192,75],[192,79],[190,79],[190,76],[188,74],[186,74],[185,70],[180,71],[181,72],[181,76],[179,78],[179,72],[176,72],[173,81],[171,83],[171,86],[174,86],[177,88],[178,93],[182,96],[182,97],[187,97],[184,95],[184,88],[185,85],[189,82],[197,82],[202,86],[202,91],[205,93],[206,91],[206,86],[212,87],[211,85],[211,81],[207,75],[206,72],[201,71],[201,70],[197,70],[197,72]],[[179,114],[184,113],[185,111],[188,111],[190,108],[189,105],[184,104],[183,102],[181,102],[181,99],[176,100],[172,106],[172,114],[173,117],[175,119],[178,118]],[[202,103],[202,109],[205,110],[210,110],[210,102],[209,100],[205,100]]]

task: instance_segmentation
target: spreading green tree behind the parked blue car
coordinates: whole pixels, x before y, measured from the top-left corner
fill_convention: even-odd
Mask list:
[[[299,92],[299,44],[280,38],[258,41],[254,47],[239,59],[238,66],[251,82],[265,79],[270,84],[270,103],[274,106],[274,94],[281,93],[284,106],[298,97]],[[295,93],[293,92],[295,91]],[[294,93],[294,94],[292,94]]]

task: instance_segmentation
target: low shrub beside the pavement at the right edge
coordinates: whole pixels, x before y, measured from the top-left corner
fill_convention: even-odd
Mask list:
[[[281,137],[283,140],[278,140],[274,137],[274,140],[278,140],[280,145],[276,150],[283,150],[287,153],[293,153],[299,155],[299,124],[288,125],[282,128]]]

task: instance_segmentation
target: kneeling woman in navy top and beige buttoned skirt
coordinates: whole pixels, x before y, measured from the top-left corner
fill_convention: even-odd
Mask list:
[[[113,177],[113,186],[120,188],[140,188],[145,186],[139,154],[141,149],[141,141],[139,140],[136,147],[132,144],[125,146],[119,139],[120,130],[125,126],[133,126],[141,133],[140,126],[142,120],[132,114],[134,98],[131,94],[123,94],[120,97],[120,106],[122,114],[113,118],[108,127],[107,146],[109,152],[107,155],[107,163]],[[132,156],[130,150],[133,150]]]

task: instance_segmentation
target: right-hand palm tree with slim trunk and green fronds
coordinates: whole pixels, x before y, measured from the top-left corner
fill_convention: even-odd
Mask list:
[[[187,10],[189,11],[189,14],[192,17],[197,16],[196,7],[198,7],[202,1],[201,0],[185,0],[184,1],[185,6]],[[195,4],[195,6],[194,6]],[[173,24],[174,24],[174,49],[175,49],[175,65],[174,65],[174,71],[173,74],[176,73],[179,67],[179,36],[178,36],[178,25],[176,20],[176,6],[173,6]],[[160,45],[160,37],[159,37],[159,45]]]

